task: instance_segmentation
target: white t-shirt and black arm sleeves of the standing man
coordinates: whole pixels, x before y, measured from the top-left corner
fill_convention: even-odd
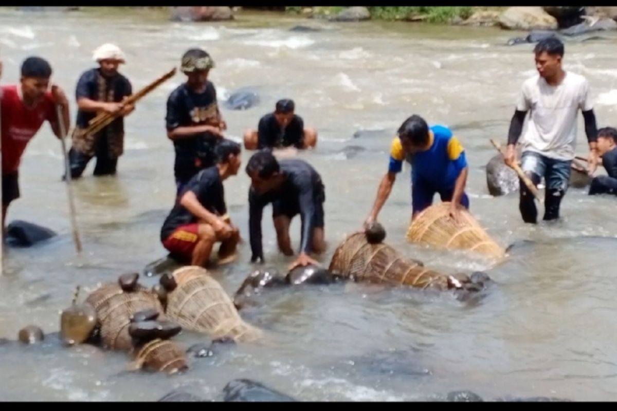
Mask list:
[[[581,75],[566,71],[558,86],[550,86],[540,75],[526,80],[516,103],[517,111],[530,112],[521,141],[523,152],[536,152],[555,160],[572,160],[578,111],[590,112],[593,108],[589,83]],[[595,141],[595,121],[586,125],[586,133],[589,141]]]

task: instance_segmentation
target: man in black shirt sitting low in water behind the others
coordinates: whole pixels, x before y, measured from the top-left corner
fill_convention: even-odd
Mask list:
[[[295,108],[293,100],[278,100],[275,111],[259,120],[257,130],[248,129],[244,133],[244,148],[262,150],[295,147],[302,150],[315,147],[317,131],[304,127],[302,117],[294,114]]]

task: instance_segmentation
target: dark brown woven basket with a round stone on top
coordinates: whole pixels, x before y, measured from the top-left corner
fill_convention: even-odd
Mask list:
[[[350,235],[336,248],[329,271],[357,282],[438,290],[450,288],[448,275],[405,258],[389,245],[368,243],[363,232]]]

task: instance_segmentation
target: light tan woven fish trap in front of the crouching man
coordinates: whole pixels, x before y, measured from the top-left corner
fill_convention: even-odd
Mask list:
[[[181,327],[209,334],[213,339],[250,342],[262,335],[242,320],[230,296],[202,267],[173,272],[177,287],[167,295],[167,316]]]

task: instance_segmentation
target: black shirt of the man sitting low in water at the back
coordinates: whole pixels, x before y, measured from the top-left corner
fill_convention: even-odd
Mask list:
[[[259,120],[257,127],[257,149],[281,149],[283,147],[304,149],[304,121],[294,114],[289,124],[283,129],[276,121],[274,113],[267,114]]]

